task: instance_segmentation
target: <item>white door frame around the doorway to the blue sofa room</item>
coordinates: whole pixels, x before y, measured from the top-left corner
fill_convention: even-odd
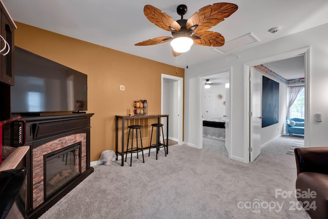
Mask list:
[[[257,59],[252,62],[244,63],[244,130],[245,130],[245,139],[244,142],[244,162],[250,162],[250,152],[249,152],[249,143],[250,143],[250,120],[249,120],[249,112],[250,112],[250,85],[249,85],[249,77],[250,77],[250,68],[252,66],[265,64],[268,62],[279,61],[286,58],[291,58],[294,56],[298,56],[299,54],[304,54],[304,88],[305,88],[305,103],[304,103],[304,146],[311,145],[311,132],[310,132],[310,81],[311,81],[311,47],[305,47],[297,50],[293,50],[290,52],[281,53],[278,55],[274,55],[267,58]]]

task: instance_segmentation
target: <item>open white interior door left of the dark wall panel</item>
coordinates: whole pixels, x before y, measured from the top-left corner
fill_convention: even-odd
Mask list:
[[[250,68],[250,161],[261,153],[262,74]]]

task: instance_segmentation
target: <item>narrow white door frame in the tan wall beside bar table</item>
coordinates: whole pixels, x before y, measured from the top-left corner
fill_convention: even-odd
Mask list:
[[[160,113],[163,114],[163,79],[173,79],[178,82],[178,144],[182,145],[183,132],[183,78],[169,74],[161,74]],[[170,121],[170,120],[169,120]]]

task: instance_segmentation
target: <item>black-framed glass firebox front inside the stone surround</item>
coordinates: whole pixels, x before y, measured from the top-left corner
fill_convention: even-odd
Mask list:
[[[45,198],[81,173],[81,142],[44,155]]]

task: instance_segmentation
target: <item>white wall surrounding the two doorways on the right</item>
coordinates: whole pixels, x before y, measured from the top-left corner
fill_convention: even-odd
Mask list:
[[[279,33],[278,33],[279,34]],[[310,53],[310,80],[309,84],[309,125],[310,136],[305,141],[305,146],[327,146],[326,131],[328,130],[328,99],[321,98],[322,94],[328,93],[328,24],[324,24],[309,30],[305,30],[290,36],[279,38],[275,41],[265,43],[253,48],[231,53],[229,55],[217,56],[217,59],[211,60],[197,66],[190,66],[185,72],[185,143],[189,145],[197,145],[199,143],[199,127],[201,120],[198,120],[200,108],[193,107],[199,102],[200,95],[197,89],[191,87],[199,87],[199,75],[204,72],[211,72],[216,69],[224,69],[232,67],[231,75],[231,139],[232,139],[232,157],[235,160],[243,160],[248,162],[247,157],[248,145],[245,140],[245,82],[244,64],[253,62],[258,59],[272,57],[281,53],[290,52],[304,47],[311,47]],[[238,55],[238,56],[237,56]],[[189,93],[190,92],[190,93]],[[196,93],[197,92],[197,93]],[[188,95],[187,95],[188,94]],[[194,97],[194,98],[191,98]],[[322,113],[322,121],[315,121],[315,113]],[[306,145],[308,144],[308,145]]]

